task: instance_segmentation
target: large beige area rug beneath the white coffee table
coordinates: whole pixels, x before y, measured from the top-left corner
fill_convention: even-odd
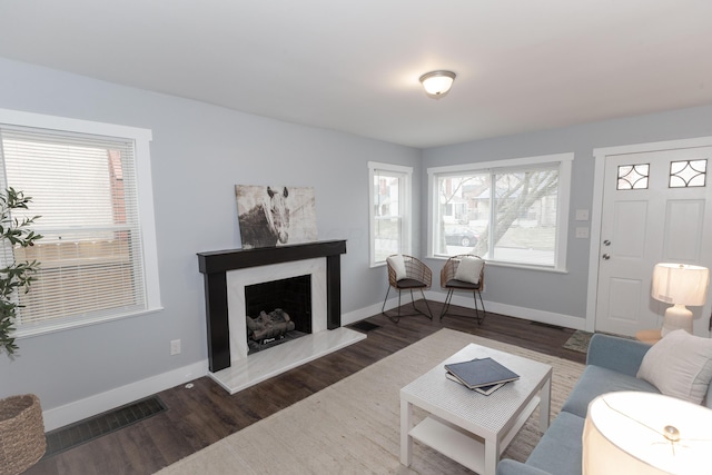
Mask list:
[[[472,473],[419,443],[414,444],[413,465],[399,463],[399,389],[469,343],[552,365],[552,420],[583,370],[577,363],[441,329],[159,474]],[[415,412],[416,423],[423,417],[425,413]],[[525,461],[540,437],[538,410],[534,410],[503,457]]]

